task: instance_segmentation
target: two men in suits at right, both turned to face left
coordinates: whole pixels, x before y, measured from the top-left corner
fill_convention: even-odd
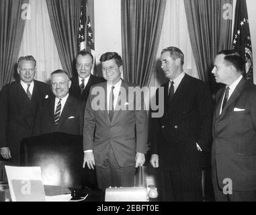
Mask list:
[[[159,95],[165,113],[153,120],[150,161],[159,168],[161,200],[202,201],[200,156],[211,148],[215,200],[256,201],[256,86],[243,78],[245,61],[234,50],[217,54],[212,74],[226,87],[216,93],[212,121],[210,93],[183,72],[183,59],[176,47],[161,52],[169,81]]]

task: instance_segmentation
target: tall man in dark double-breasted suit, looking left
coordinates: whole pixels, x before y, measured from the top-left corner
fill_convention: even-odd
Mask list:
[[[210,148],[210,93],[203,81],[184,73],[183,60],[179,48],[161,52],[161,68],[169,81],[158,99],[164,99],[164,114],[153,118],[151,165],[159,168],[163,201],[202,200],[200,153]]]

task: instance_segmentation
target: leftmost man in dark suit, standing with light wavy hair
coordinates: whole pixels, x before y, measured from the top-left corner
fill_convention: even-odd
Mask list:
[[[31,136],[38,104],[50,96],[46,83],[34,80],[36,60],[22,56],[17,62],[20,81],[5,85],[0,93],[1,156],[19,165],[20,141]]]

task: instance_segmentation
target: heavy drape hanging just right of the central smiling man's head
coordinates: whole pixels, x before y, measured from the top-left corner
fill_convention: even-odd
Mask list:
[[[122,0],[124,79],[148,86],[155,69],[166,0]]]

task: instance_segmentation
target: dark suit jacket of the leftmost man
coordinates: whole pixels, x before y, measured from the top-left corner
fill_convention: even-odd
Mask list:
[[[20,141],[31,136],[38,104],[50,96],[46,83],[34,80],[30,112],[24,106],[29,101],[20,81],[5,85],[0,93],[0,147],[9,147],[11,156],[19,160]]]

